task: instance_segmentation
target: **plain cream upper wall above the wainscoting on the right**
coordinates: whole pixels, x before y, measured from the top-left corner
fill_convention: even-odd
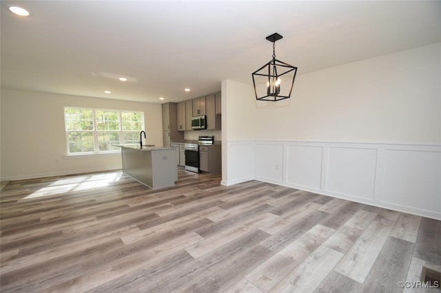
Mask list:
[[[260,108],[254,108],[260,117],[254,138],[441,144],[440,47],[418,47],[309,74],[301,74],[300,68],[287,107],[264,108],[265,102],[259,102]]]

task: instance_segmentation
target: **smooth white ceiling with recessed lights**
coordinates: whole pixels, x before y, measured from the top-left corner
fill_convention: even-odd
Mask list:
[[[31,16],[9,12],[12,3]],[[143,102],[209,94],[225,79],[252,84],[252,72],[271,60],[265,37],[274,32],[283,35],[277,58],[298,74],[441,41],[441,1],[0,5],[2,87]]]

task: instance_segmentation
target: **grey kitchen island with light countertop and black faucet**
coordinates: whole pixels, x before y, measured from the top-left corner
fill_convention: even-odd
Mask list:
[[[115,144],[121,147],[123,173],[150,188],[174,186],[178,181],[176,149],[139,144]]]

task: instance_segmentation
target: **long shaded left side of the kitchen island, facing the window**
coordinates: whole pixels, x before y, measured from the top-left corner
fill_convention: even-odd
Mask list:
[[[154,188],[152,151],[121,147],[123,172],[139,182]]]

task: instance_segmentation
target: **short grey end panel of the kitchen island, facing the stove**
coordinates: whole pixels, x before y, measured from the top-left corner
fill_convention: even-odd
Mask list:
[[[176,150],[161,149],[152,151],[153,188],[174,186],[178,181]]]

